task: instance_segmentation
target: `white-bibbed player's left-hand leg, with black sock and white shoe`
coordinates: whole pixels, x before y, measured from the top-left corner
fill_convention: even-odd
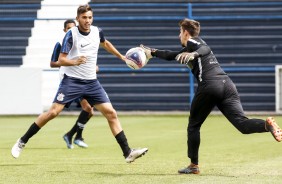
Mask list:
[[[34,136],[46,123],[55,118],[63,110],[63,108],[63,104],[53,103],[47,112],[40,114],[36,121],[32,123],[32,125],[26,131],[26,133],[17,140],[16,144],[11,150],[12,156],[14,158],[18,158],[28,140]]]

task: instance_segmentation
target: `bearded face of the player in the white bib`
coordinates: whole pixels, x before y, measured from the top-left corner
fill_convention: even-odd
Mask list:
[[[80,14],[78,17],[76,17],[76,20],[79,24],[78,27],[80,31],[90,32],[90,26],[93,22],[92,11],[88,11],[88,12]]]

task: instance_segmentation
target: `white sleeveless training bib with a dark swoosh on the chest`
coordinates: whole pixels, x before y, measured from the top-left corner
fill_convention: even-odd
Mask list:
[[[68,36],[71,36],[72,39],[67,39]],[[71,41],[72,43],[65,43]],[[90,26],[90,33],[88,35],[82,35],[78,27],[72,27],[64,38],[61,52],[68,50],[65,49],[68,45],[71,45],[67,56],[68,59],[75,60],[79,56],[86,56],[87,61],[79,66],[61,66],[62,71],[70,77],[87,80],[96,79],[96,64],[100,45],[98,27]]]

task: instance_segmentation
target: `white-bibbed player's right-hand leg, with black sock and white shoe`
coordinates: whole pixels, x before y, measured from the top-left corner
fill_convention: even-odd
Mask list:
[[[108,102],[97,104],[95,105],[95,108],[98,109],[106,117],[112,134],[115,136],[118,144],[120,145],[123,156],[127,163],[133,162],[135,159],[141,157],[148,151],[148,148],[131,149],[129,147],[127,138],[117,117],[117,113],[111,103]]]

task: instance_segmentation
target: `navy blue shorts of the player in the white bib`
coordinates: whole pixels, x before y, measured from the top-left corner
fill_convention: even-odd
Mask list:
[[[86,99],[91,106],[111,102],[97,79],[84,80],[64,75],[53,102],[68,105],[79,98]]]

